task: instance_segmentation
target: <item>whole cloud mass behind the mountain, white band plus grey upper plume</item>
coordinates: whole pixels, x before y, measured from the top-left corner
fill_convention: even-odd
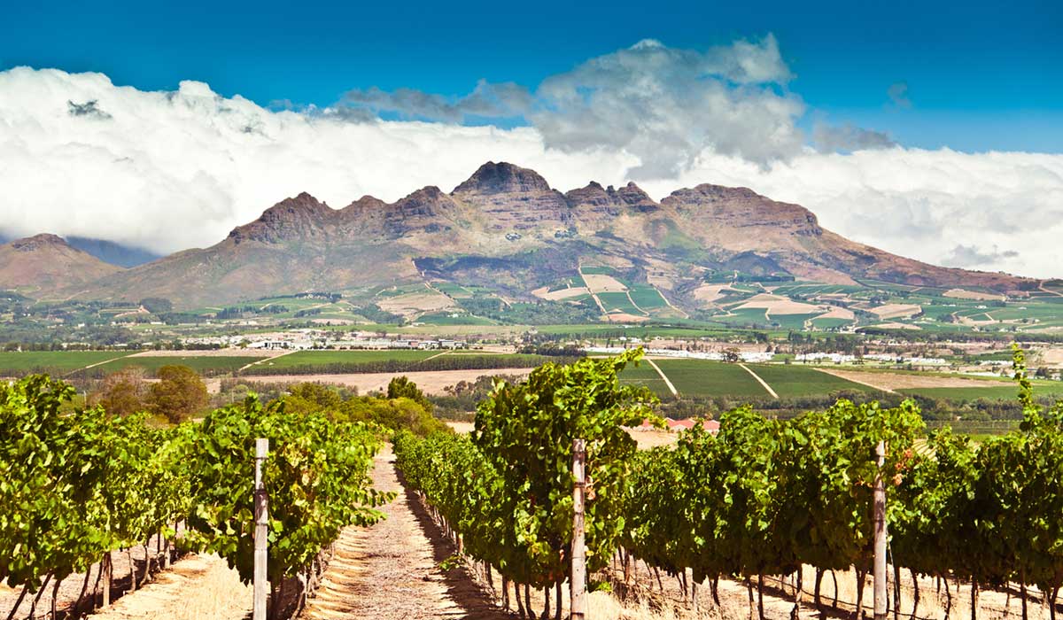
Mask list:
[[[697,183],[743,185],[907,256],[1063,275],[1063,155],[906,149],[860,128],[828,128],[813,149],[793,128],[804,104],[779,88],[789,71],[774,40],[740,44],[753,52],[643,43],[547,80],[536,103],[486,83],[472,101],[422,98],[417,116],[455,106],[448,122],[385,121],[350,105],[274,111],[199,82],[142,91],[100,73],[11,69],[0,72],[0,234],[169,252],[217,242],[300,191],[335,207],[427,184],[449,191],[493,160],[535,168],[562,190],[631,177],[658,199]],[[682,91],[698,72],[710,85]],[[618,90],[625,76],[629,88]],[[543,94],[564,113],[508,130],[458,124],[477,110],[546,114],[535,108]],[[393,95],[375,97],[392,105]]]

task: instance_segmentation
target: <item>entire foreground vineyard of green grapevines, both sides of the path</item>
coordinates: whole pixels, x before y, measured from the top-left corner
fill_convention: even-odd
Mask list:
[[[469,435],[393,432],[398,479],[374,458],[391,431],[337,421],[343,417],[296,406],[293,396],[291,410],[285,400],[264,405],[251,397],[202,420],[156,428],[147,415],[71,410],[73,389],[44,375],[0,385],[0,581],[19,588],[7,620],[23,600],[35,609],[48,590],[54,605],[64,582],[80,589],[66,617],[107,605],[124,581],[115,571],[117,550],[130,554],[133,589],[153,564],[168,566],[184,552],[216,554],[250,582],[258,437],[270,441],[263,479],[272,618],[298,614],[322,587],[334,543],[358,530],[349,525],[371,526],[388,514],[398,521],[381,531],[409,531],[403,527],[419,508],[402,507],[406,498],[388,503],[400,483],[460,556],[487,580],[501,577],[501,604],[523,617],[563,616],[580,518],[590,585],[618,598],[645,604],[645,586],[652,593],[656,582],[663,592],[663,574],[695,614],[699,604],[722,608],[721,598],[733,605],[740,583],[750,615],[762,619],[765,598],[779,596],[794,617],[813,605],[844,616],[864,607],[878,481],[887,489],[895,619],[906,597],[913,620],[937,617],[941,609],[928,608],[940,599],[928,591],[932,582],[945,585],[945,616],[954,611],[949,584],[959,593],[962,582],[973,619],[980,592],[1006,592],[1008,604],[1014,597],[1024,618],[1028,600],[1047,603],[1054,617],[1063,585],[1063,402],[1034,400],[1017,349],[1023,423],[982,442],[947,428],[928,433],[910,401],[840,400],[788,420],[739,407],[719,417],[716,434],[695,424],[675,445],[642,451],[626,429],[663,421],[652,391],[621,380],[641,355],[547,363],[521,383],[500,381],[478,403]],[[395,396],[403,386],[416,392],[409,382],[393,383]],[[586,446],[579,502],[576,445]],[[140,567],[133,548],[144,550]],[[343,556],[344,566],[353,557]],[[839,606],[836,573],[850,571],[855,600]],[[342,600],[332,587],[332,600]]]

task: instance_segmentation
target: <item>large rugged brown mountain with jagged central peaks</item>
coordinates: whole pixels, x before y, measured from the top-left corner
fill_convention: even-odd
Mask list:
[[[83,298],[165,297],[179,307],[320,290],[383,307],[385,288],[421,286],[423,295],[434,295],[432,283],[445,281],[490,290],[503,301],[557,301],[576,296],[580,287],[573,283],[580,284],[584,269],[630,285],[591,279],[601,281],[601,292],[656,288],[665,313],[704,307],[698,288],[722,274],[1000,292],[1036,286],[850,241],[823,229],[807,208],[744,187],[703,184],[659,202],[634,183],[615,188],[591,182],[562,194],[534,170],[488,162],[449,194],[428,186],[393,203],[366,196],[336,210],[300,194],[215,246],[104,273],[87,292],[78,285],[68,290]],[[601,297],[594,303],[609,312]]]

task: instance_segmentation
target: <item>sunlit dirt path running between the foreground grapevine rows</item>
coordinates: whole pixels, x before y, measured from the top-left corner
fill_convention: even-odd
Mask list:
[[[390,449],[376,457],[373,484],[399,493],[383,508],[387,519],[343,530],[304,618],[508,618],[461,569],[439,567],[454,549],[399,483]]]

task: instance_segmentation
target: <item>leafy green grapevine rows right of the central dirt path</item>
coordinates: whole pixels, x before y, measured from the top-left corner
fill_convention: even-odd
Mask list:
[[[947,429],[923,440],[926,429],[911,402],[880,408],[843,400],[786,421],[738,408],[721,416],[718,435],[695,425],[676,447],[644,452],[621,425],[653,419],[654,399],[617,381],[637,358],[542,367],[526,383],[496,387],[480,404],[471,436],[395,440],[407,484],[468,556],[503,575],[503,601],[521,615],[535,615],[527,602],[537,588],[546,617],[550,589],[559,601],[570,576],[571,447],[579,437],[587,441],[591,571],[615,562],[626,582],[642,560],[685,589],[689,571],[695,601],[697,584],[708,584],[715,600],[719,580],[738,577],[749,588],[750,613],[754,587],[760,591],[763,618],[771,575],[795,575],[799,614],[802,567],[814,569],[817,606],[823,576],[853,567],[861,608],[873,559],[873,485],[881,479],[895,609],[904,568],[913,584],[905,591],[914,589],[913,617],[917,575],[971,584],[973,618],[980,590],[1012,584],[1024,618],[1030,586],[1047,597],[1054,617],[1063,584],[1063,403],[1034,402],[1022,352],[1014,361],[1022,428],[980,445]],[[887,447],[881,466],[879,442]]]

